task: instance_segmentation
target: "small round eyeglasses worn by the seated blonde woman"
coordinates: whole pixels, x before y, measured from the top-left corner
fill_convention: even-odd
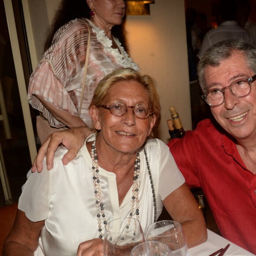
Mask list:
[[[108,109],[113,116],[121,117],[126,113],[128,108],[133,110],[134,115],[139,119],[146,119],[152,114],[148,107],[144,104],[137,104],[136,106],[127,106],[123,102],[113,102],[110,106],[99,105],[104,109]]]

